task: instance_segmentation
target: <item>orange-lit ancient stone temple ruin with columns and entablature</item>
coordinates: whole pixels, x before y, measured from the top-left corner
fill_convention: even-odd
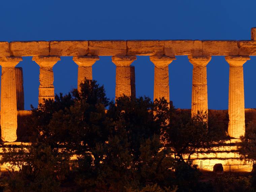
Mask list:
[[[229,65],[228,133],[239,141],[245,134],[246,117],[256,114],[245,109],[243,65],[256,56],[256,28],[251,29],[251,40],[82,40],[82,41],[13,41],[0,42],[1,75],[1,139],[13,142],[17,139],[17,120],[24,110],[23,71],[15,67],[22,57],[33,56],[40,67],[38,102],[54,99],[53,66],[63,56],[72,56],[78,65],[77,85],[86,77],[93,78],[92,65],[99,56],[112,56],[116,65],[116,97],[123,94],[135,97],[136,56],[150,56],[155,66],[154,99],[169,100],[168,66],[175,56],[188,56],[193,65],[191,116],[197,111],[213,113],[208,109],[207,64],[212,56],[225,56]],[[114,86],[114,85],[113,85]],[[79,91],[79,86],[77,87]],[[246,111],[246,113],[245,113]],[[254,111],[254,112],[253,112]],[[215,111],[214,113],[222,113]],[[227,144],[228,144],[227,143]],[[197,155],[195,161],[244,166],[234,151],[235,145],[226,145],[221,152]],[[224,152],[225,151],[225,152]],[[224,167],[225,170],[225,167]]]

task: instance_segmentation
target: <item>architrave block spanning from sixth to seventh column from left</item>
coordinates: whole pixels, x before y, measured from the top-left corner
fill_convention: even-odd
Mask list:
[[[203,41],[203,55],[238,55],[237,41],[209,40]]]

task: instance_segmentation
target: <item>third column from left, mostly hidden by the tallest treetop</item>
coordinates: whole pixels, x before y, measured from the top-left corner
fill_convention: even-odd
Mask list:
[[[81,91],[80,84],[85,78],[92,80],[92,65],[99,60],[98,56],[78,56],[73,57],[73,61],[78,65],[77,90]]]

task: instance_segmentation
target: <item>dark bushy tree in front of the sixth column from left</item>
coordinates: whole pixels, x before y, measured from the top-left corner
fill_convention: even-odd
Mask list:
[[[206,113],[191,114],[177,111],[164,98],[155,101],[155,116],[162,122],[162,140],[170,148],[177,161],[189,162],[191,155],[201,150],[210,150],[216,142],[225,138],[221,122]],[[207,121],[208,120],[208,121]]]

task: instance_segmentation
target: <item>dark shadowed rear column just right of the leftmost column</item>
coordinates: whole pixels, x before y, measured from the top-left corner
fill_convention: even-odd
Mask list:
[[[15,67],[17,110],[24,110],[24,88],[22,67]]]

